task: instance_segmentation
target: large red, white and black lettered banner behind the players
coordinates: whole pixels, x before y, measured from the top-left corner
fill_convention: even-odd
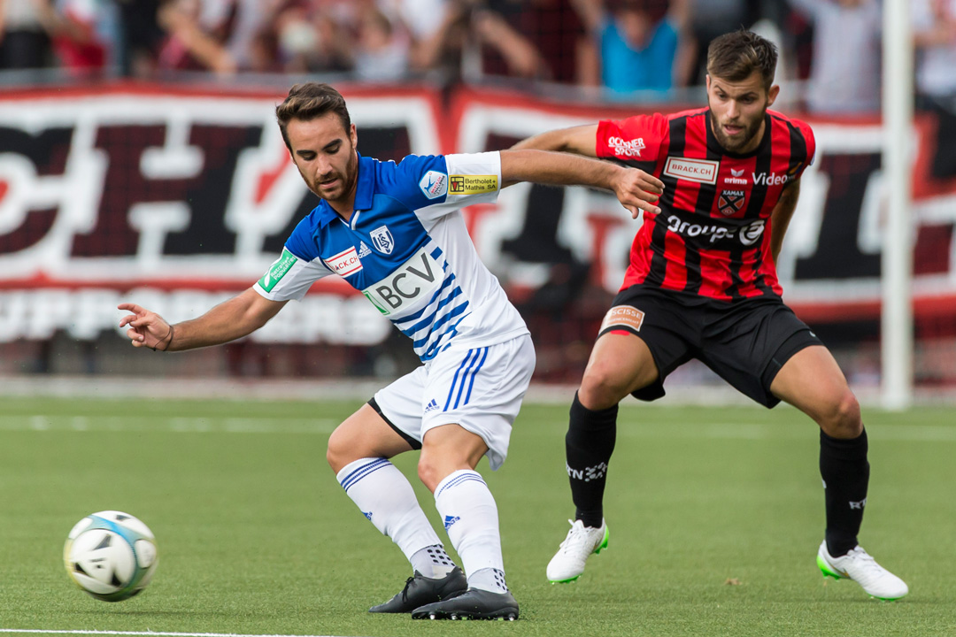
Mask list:
[[[447,107],[425,88],[342,92],[359,152],[379,159],[506,148],[634,113],[468,90]],[[184,320],[256,281],[316,202],[275,124],[282,98],[130,86],[0,96],[0,341],[57,329],[93,339],[116,329],[125,300]],[[879,122],[811,123],[817,156],[778,265],[786,299],[807,320],[876,317],[881,193],[893,186]],[[951,314],[956,180],[923,177],[932,122],[914,136],[915,304],[918,316]],[[609,194],[529,184],[466,219],[519,300],[554,285],[555,264],[588,265],[585,285],[616,291],[639,223]],[[369,345],[389,329],[350,287],[323,280],[255,338]]]

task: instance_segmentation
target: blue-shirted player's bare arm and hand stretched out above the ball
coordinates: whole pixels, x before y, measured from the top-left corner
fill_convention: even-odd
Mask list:
[[[119,308],[132,312],[120,320],[133,347],[179,351],[205,348],[242,338],[266,325],[286,301],[270,301],[251,287],[202,316],[170,325],[156,312],[134,303]]]

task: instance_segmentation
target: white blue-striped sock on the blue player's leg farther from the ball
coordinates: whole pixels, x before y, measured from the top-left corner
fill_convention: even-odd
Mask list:
[[[435,507],[465,566],[468,586],[496,593],[505,586],[498,506],[477,471],[456,471],[435,488]]]

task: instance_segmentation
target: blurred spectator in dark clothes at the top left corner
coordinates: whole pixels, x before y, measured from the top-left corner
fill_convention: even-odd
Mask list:
[[[50,36],[42,17],[49,0],[0,0],[0,69],[50,65]]]

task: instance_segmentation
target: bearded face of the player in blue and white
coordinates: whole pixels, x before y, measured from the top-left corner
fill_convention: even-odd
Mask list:
[[[286,126],[293,161],[309,190],[330,203],[355,195],[359,176],[355,124],[346,130],[335,113],[315,119],[293,119]]]

